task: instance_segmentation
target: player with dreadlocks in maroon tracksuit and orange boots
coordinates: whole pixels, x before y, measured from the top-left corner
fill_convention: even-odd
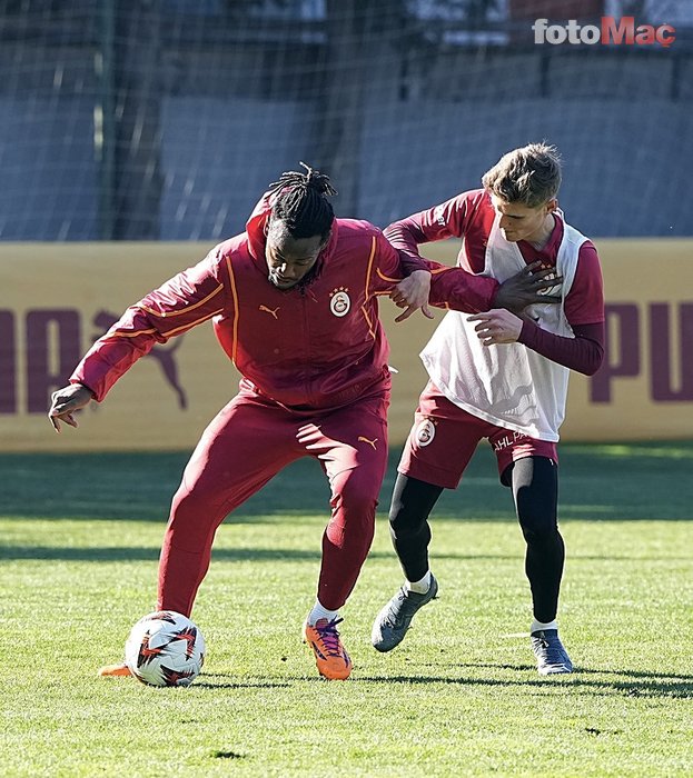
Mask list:
[[[336,219],[329,179],[304,167],[270,186],[245,232],[131,306],[53,393],[49,418],[58,431],[61,421],[76,427],[75,411],[103,400],[155,343],[212,319],[241,381],[202,433],[174,497],[157,608],[189,616],[225,517],[284,467],[314,457],[329,480],[331,513],[304,638],[320,675],[344,679],[352,660],[338,611],[370,548],[387,461],[390,377],[377,298],[389,295],[406,308],[398,320],[406,318],[428,296],[432,263],[400,260],[366,221]],[[438,295],[475,312],[536,299],[537,285],[524,278],[498,285],[434,269],[432,301]],[[101,675],[129,670],[115,665]]]

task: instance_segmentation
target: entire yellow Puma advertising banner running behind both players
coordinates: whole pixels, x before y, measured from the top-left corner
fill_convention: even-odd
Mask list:
[[[120,313],[209,243],[0,243],[0,450],[191,448],[236,392],[238,373],[211,325],[157,346],[79,429],[53,432],[50,393]],[[426,247],[454,263],[456,241]],[[693,240],[600,240],[607,300],[607,359],[573,375],[564,440],[693,437]],[[426,375],[418,352],[435,321],[395,325],[382,302],[394,376],[390,441],[400,445]]]

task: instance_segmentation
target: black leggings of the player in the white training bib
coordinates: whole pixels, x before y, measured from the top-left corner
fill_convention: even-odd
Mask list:
[[[532,590],[534,617],[553,621],[565,547],[558,531],[558,473],[556,463],[544,457],[525,457],[508,466],[502,482],[511,486],[517,519],[527,543],[525,572]],[[404,575],[417,581],[428,570],[430,526],[428,517],[443,487],[398,473],[389,511],[393,545]]]

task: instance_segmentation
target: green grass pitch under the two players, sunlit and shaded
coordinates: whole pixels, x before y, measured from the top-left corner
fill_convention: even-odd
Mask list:
[[[439,599],[389,655],[370,624],[400,572],[383,490],[320,680],[300,627],[327,487],[304,460],[219,530],[188,689],[99,679],[152,609],[185,455],[0,456],[1,776],[690,776],[693,443],[564,445],[561,627],[576,666],[539,678],[511,496],[479,450],[433,522]]]

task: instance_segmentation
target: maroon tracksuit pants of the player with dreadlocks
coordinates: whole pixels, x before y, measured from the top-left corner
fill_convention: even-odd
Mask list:
[[[289,411],[241,391],[202,433],[176,492],[159,562],[158,608],[190,615],[226,516],[300,457],[315,457],[331,490],[318,599],[337,610],[350,595],[375,530],[387,466],[389,395],[329,412]]]

